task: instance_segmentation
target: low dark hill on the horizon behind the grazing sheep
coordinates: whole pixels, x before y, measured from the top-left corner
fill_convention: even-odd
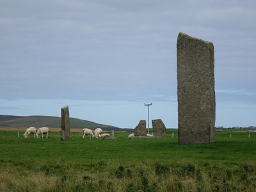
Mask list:
[[[58,116],[12,116],[0,115],[0,127],[54,127],[61,128],[61,118]],[[104,131],[124,131],[111,125],[97,124],[79,118],[70,118],[70,128],[73,129],[96,129],[100,127]]]

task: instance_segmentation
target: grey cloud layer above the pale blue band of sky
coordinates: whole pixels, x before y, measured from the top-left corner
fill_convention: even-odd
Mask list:
[[[253,1],[1,1],[0,9],[3,98],[175,98],[180,31],[214,43],[216,88],[255,88]]]

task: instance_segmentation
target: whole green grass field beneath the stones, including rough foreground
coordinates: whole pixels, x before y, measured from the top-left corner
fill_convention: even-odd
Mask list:
[[[256,191],[256,132],[230,131],[201,145],[177,144],[177,129],[132,140],[71,132],[69,141],[0,131],[0,191]]]

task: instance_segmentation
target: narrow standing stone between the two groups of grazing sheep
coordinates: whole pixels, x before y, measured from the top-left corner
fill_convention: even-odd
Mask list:
[[[69,140],[70,124],[68,106],[61,108],[61,141]]]

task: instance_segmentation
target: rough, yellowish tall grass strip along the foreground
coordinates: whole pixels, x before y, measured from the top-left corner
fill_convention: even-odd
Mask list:
[[[1,162],[1,191],[255,191],[255,163]],[[164,168],[164,169],[163,169]],[[159,172],[159,169],[161,170]],[[164,171],[163,171],[164,170]]]

